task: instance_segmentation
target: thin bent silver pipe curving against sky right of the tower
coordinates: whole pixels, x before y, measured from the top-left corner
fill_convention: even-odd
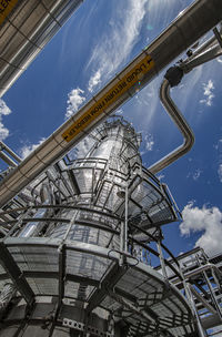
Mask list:
[[[160,100],[165,108],[168,114],[171,116],[175,125],[179,127],[183,135],[183,143],[179,147],[176,147],[174,151],[165,155],[163,159],[161,159],[155,164],[151,165],[148,170],[155,174],[160,172],[161,170],[165,168],[173,162],[175,162],[179,157],[183,156],[185,153],[188,153],[194,143],[194,134],[189,126],[188,122],[185,121],[184,116],[178,109],[178,106],[174,104],[170,96],[170,83],[168,80],[163,80],[162,85],[160,88]]]

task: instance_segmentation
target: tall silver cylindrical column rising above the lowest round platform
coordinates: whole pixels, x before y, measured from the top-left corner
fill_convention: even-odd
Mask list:
[[[88,152],[80,153],[81,159],[73,160],[65,170],[79,193],[69,204],[77,210],[63,210],[60,216],[71,218],[72,225],[59,224],[48,235],[102,247],[112,241],[112,248],[120,249],[119,234],[112,231],[120,232],[121,224],[113,215],[123,216],[124,198],[120,192],[130,183],[133,163],[141,170],[140,135],[129,123],[113,118],[93,133],[93,140],[87,141]],[[83,210],[85,206],[88,210]]]

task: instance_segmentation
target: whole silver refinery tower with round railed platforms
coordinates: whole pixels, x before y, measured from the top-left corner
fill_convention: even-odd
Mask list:
[[[161,248],[176,208],[139,145],[113,116],[82,142],[83,157],[72,151],[4,207],[1,336],[195,336]]]

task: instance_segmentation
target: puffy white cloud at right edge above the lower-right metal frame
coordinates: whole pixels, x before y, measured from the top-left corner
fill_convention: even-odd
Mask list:
[[[195,247],[200,246],[210,255],[222,251],[222,212],[218,207],[202,208],[189,203],[182,211],[183,222],[180,225],[182,235],[202,232],[195,242]]]

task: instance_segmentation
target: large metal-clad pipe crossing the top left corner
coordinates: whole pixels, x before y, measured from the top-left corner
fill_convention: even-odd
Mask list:
[[[83,0],[0,1],[0,96]]]

